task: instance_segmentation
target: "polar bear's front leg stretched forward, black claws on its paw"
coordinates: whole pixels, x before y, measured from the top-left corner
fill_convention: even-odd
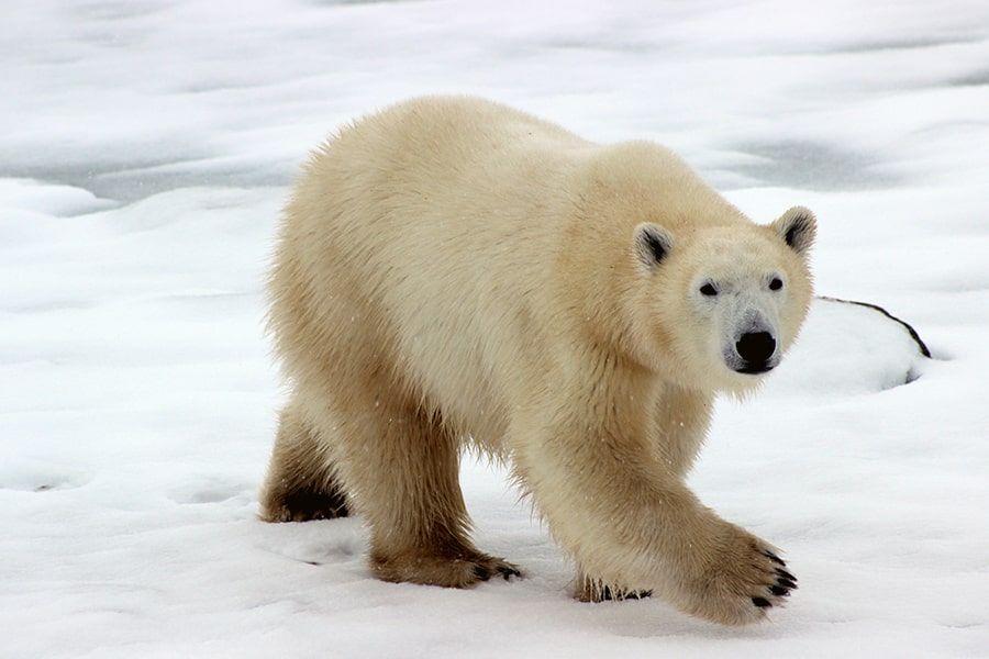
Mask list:
[[[797,583],[776,550],[700,504],[657,459],[647,420],[584,402],[551,404],[552,421],[520,418],[512,434],[520,480],[581,569],[727,625],[781,605]]]

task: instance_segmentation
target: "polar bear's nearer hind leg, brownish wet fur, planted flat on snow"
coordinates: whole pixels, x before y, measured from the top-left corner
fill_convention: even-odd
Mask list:
[[[515,566],[470,541],[459,442],[438,415],[412,402],[348,393],[334,410],[338,431],[349,435],[338,445],[342,476],[370,526],[375,574],[453,588],[520,576]]]

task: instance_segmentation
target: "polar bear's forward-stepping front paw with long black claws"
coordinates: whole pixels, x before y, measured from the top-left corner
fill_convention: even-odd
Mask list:
[[[797,589],[797,578],[767,543],[731,524],[722,530],[690,584],[687,611],[724,625],[766,619]]]

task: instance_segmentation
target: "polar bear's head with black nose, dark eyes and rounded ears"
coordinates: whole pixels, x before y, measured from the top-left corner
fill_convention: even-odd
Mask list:
[[[779,365],[807,315],[815,230],[799,206],[768,226],[744,219],[635,226],[640,351],[681,386],[752,389]]]

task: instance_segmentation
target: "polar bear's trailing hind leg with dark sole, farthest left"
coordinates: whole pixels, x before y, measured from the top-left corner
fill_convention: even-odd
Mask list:
[[[281,411],[260,504],[260,517],[266,522],[332,520],[349,514],[327,447],[293,404]]]

